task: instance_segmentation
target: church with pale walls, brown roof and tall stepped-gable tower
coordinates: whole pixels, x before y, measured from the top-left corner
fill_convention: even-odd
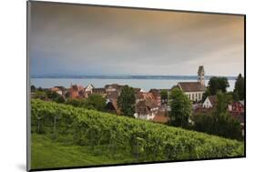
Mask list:
[[[179,82],[179,88],[193,102],[200,102],[202,100],[202,94],[205,92],[206,86],[204,81],[204,67],[200,66],[198,70],[198,81],[197,82]]]

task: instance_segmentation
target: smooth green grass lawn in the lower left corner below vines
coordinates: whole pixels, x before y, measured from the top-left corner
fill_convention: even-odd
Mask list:
[[[111,158],[107,155],[95,155],[90,147],[67,146],[57,143],[45,135],[32,134],[32,169],[93,166],[128,162],[135,162],[135,159],[132,157],[123,159],[117,157]]]

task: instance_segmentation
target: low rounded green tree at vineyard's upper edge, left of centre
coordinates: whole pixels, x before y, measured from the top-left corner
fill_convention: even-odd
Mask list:
[[[104,111],[106,107],[106,98],[100,95],[90,95],[86,100],[87,108],[94,108],[98,111]]]

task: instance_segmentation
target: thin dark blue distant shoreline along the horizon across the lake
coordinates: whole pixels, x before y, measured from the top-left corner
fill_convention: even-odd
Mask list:
[[[205,76],[209,80],[212,76]],[[237,76],[223,76],[235,80]],[[61,79],[164,79],[164,80],[197,80],[198,76],[30,76],[30,78],[61,78]]]

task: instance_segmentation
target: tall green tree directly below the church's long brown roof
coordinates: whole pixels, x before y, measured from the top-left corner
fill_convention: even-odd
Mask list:
[[[189,97],[179,88],[170,92],[170,124],[173,126],[189,126],[189,116],[192,113],[192,105]]]

